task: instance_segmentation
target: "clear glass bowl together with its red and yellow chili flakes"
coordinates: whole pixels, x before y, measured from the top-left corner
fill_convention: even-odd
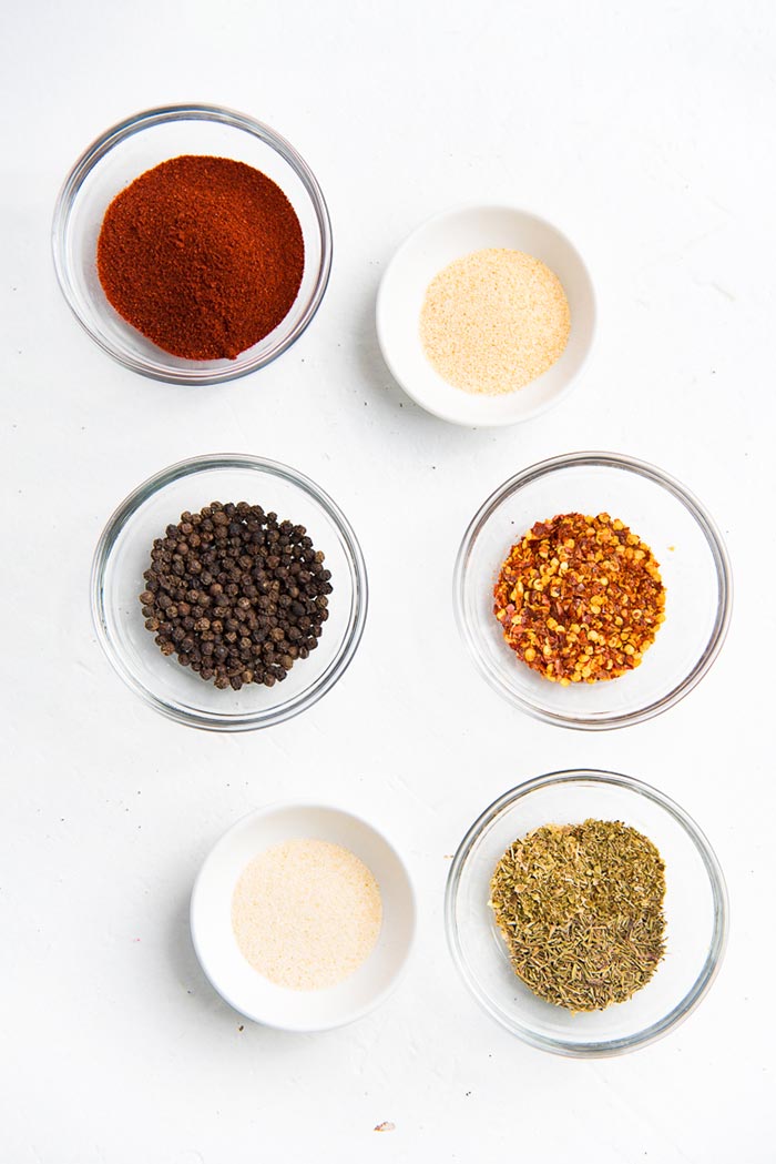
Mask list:
[[[453,596],[499,695],[546,723],[600,730],[649,719],[700,682],[732,589],[719,530],[684,485],[621,454],[572,453],[484,502]]]

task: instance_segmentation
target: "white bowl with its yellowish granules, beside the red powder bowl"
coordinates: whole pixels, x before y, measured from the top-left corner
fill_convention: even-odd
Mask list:
[[[398,249],[376,321],[390,371],[421,407],[458,425],[513,425],[578,381],[596,299],[556,227],[511,206],[463,206]]]

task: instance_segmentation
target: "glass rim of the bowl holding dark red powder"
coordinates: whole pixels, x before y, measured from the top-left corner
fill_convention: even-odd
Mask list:
[[[262,356],[256,356],[252,360],[245,361],[244,364],[240,364],[240,356],[237,356],[236,361],[230,361],[232,364],[237,364],[236,368],[225,367],[215,370],[211,369],[209,371],[205,371],[202,369],[198,372],[195,367],[157,367],[156,364],[150,364],[141,357],[120,353],[92,326],[88,315],[79,310],[77,297],[73,292],[72,278],[66,257],[65,239],[67,236],[70,215],[80,187],[88,175],[111,152],[114,146],[120,144],[137,133],[142,133],[144,129],[173,121],[214,121],[233,129],[241,129],[254,137],[258,137],[262,142],[264,142],[264,144],[269,146],[277,154],[279,154],[279,156],[296,172],[297,177],[305,187],[315,212],[321,241],[321,258],[318,274],[315,276],[315,284],[312,289],[304,312],[289,335],[265,352]],[[277,360],[278,356],[280,356],[299,339],[302,332],[305,332],[311,324],[321,305],[332,272],[332,219],[326,205],[326,199],[323,198],[323,192],[315,175],[291,142],[277,133],[277,130],[272,129],[271,126],[268,126],[265,122],[258,121],[256,118],[251,118],[245,113],[240,113],[236,109],[230,109],[219,105],[163,105],[151,109],[142,109],[140,113],[135,113],[131,116],[119,121],[116,125],[111,126],[109,129],[106,129],[102,134],[100,134],[99,137],[97,137],[92,144],[88,146],[76,159],[62,184],[55,204],[54,218],[51,221],[51,251],[57,282],[59,283],[59,288],[67,306],[86,334],[91,336],[99,348],[115,360],[116,363],[120,363],[122,367],[128,368],[131,371],[138,372],[141,376],[148,376],[150,379],[168,384],[223,384],[234,379],[240,379],[242,376],[248,376],[251,372],[257,371],[259,368],[264,368],[272,363],[273,360]],[[161,348],[158,350],[162,359],[168,356],[168,353],[164,353]]]

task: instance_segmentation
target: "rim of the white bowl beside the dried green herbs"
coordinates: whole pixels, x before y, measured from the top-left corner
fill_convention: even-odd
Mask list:
[[[268,816],[273,816],[277,812],[286,811],[289,809],[302,809],[302,810],[312,809],[312,810],[323,810],[326,812],[333,812],[337,816],[346,817],[349,821],[355,821],[358,825],[366,829],[369,832],[373,833],[382,840],[382,843],[396,858],[399,868],[404,873],[408,892],[410,937],[407,941],[407,947],[405,950],[404,957],[401,958],[401,961],[397,967],[393,977],[386,982],[386,985],[383,987],[382,991],[379,991],[376,995],[373,995],[372,999],[370,999],[369,1002],[363,1003],[363,1006],[361,1007],[351,1008],[351,1010],[349,1010],[347,1015],[337,1018],[334,1022],[320,1023],[314,1027],[311,1027],[308,1023],[304,1024],[289,1023],[289,1022],[279,1023],[277,1021],[268,1018],[266,1016],[259,1016],[255,1013],[249,1013],[241,1005],[235,1002],[234,999],[230,998],[229,992],[222,989],[221,985],[219,985],[215,981],[214,977],[212,977],[209,972],[207,965],[208,963],[207,953],[204,953],[201,935],[198,932],[198,925],[195,922],[195,913],[198,908],[199,895],[201,894],[201,887],[205,880],[207,879],[207,875],[209,873],[209,866],[215,860],[218,850],[221,847],[221,845],[227,844],[230,835],[236,832],[239,829],[244,828],[249,822],[254,821],[258,822],[265,819]],[[292,797],[290,800],[272,801],[270,804],[264,804],[261,808],[252,809],[250,812],[245,812],[237,821],[235,821],[234,824],[229,825],[229,828],[225,832],[220,835],[220,837],[208,850],[202,864],[199,867],[197,876],[194,878],[194,885],[192,887],[190,906],[188,906],[188,927],[191,931],[191,941],[194,947],[194,953],[197,954],[197,960],[201,967],[202,973],[205,974],[206,979],[208,980],[213,989],[216,992],[216,994],[219,994],[234,1010],[236,1010],[239,1014],[244,1015],[247,1018],[250,1018],[251,1022],[261,1023],[263,1027],[271,1027],[275,1030],[313,1034],[318,1031],[335,1030],[339,1027],[346,1027],[351,1022],[356,1022],[358,1018],[363,1018],[365,1015],[377,1009],[377,1007],[382,1006],[382,1003],[393,993],[393,991],[405,975],[411,954],[415,945],[415,939],[418,935],[418,899],[415,894],[415,887],[413,885],[412,876],[410,874],[410,870],[407,867],[406,861],[401,857],[399,850],[389,839],[389,837],[386,837],[386,835],[383,832],[382,829],[378,829],[377,825],[372,824],[371,821],[368,821],[359,814],[353,812],[350,809],[343,808],[341,804],[334,801],[319,801],[319,800],[309,800],[307,797]],[[206,945],[207,943],[205,943],[205,946]]]

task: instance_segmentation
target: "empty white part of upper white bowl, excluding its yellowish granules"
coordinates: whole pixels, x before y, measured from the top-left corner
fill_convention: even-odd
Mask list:
[[[563,355],[543,376],[504,396],[479,396],[448,384],[420,341],[426,289],[442,268],[487,247],[507,247],[541,258],[565,291],[571,333]],[[544,219],[513,206],[463,206],[420,226],[391,260],[377,296],[377,338],[393,377],[427,412],[471,427],[529,420],[557,404],[577,382],[592,347],[596,297],[582,257]]]

